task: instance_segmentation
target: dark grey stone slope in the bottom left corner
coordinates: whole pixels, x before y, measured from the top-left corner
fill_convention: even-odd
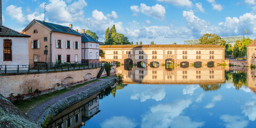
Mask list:
[[[22,113],[9,100],[0,94],[0,127],[35,127],[37,125],[27,115]]]

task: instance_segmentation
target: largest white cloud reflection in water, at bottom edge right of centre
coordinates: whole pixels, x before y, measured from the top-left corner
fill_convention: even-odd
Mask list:
[[[192,122],[189,117],[181,116],[191,103],[188,99],[150,107],[150,111],[141,116],[141,127],[201,127],[203,122]]]

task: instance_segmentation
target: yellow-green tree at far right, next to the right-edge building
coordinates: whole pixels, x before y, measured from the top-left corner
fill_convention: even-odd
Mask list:
[[[240,40],[237,40],[235,45],[233,46],[233,57],[239,57],[242,58],[246,55],[246,46],[249,45],[252,42],[252,39],[250,38],[243,38]]]

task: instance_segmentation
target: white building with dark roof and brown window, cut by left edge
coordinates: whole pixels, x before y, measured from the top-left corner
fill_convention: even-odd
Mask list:
[[[0,65],[28,65],[29,37],[0,25]],[[13,70],[11,66],[9,68]]]

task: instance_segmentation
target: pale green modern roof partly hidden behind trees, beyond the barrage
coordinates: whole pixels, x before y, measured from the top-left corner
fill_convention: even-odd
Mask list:
[[[221,37],[226,43],[234,44],[238,39],[241,40],[244,36],[229,36],[229,37]],[[199,44],[199,39],[189,39],[185,40],[184,44]]]

